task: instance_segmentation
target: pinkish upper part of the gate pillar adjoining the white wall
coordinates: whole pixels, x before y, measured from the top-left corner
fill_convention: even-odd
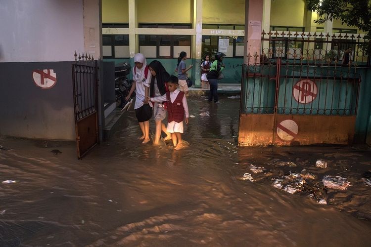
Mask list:
[[[101,8],[101,0],[83,0],[84,50],[98,60],[103,58]]]

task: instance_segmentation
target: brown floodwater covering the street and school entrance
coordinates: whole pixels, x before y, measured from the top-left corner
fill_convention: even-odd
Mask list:
[[[141,145],[133,110],[81,161],[74,143],[1,138],[0,180],[16,182],[0,184],[0,246],[371,246],[371,186],[360,182],[370,152],[237,147],[239,99],[205,99],[188,98],[190,147],[180,151]],[[278,160],[297,164],[279,172],[343,172],[352,186],[320,205],[271,177],[238,179]]]

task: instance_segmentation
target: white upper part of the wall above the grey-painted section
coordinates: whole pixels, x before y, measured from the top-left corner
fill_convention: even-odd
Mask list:
[[[83,0],[0,0],[0,62],[73,61],[84,51]]]

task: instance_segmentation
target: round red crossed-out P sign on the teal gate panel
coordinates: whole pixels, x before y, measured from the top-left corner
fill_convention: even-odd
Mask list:
[[[300,80],[292,88],[292,94],[294,99],[301,104],[311,103],[317,97],[317,85],[308,79]]]

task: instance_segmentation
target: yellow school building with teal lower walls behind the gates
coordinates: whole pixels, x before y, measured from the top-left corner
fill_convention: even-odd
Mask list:
[[[316,24],[316,13],[305,0],[260,0],[261,27],[265,32],[324,32],[357,34],[355,27],[339,20]],[[245,0],[102,0],[102,45],[104,61],[128,61],[136,52],[148,61],[157,59],[171,73],[181,51],[187,64],[199,65],[205,54],[227,54],[222,83],[240,83],[244,58]],[[287,49],[300,44],[284,44]],[[275,49],[270,45],[271,49]],[[278,46],[278,43],[275,43]],[[283,52],[284,53],[284,52]],[[189,74],[200,86],[199,66]]]

